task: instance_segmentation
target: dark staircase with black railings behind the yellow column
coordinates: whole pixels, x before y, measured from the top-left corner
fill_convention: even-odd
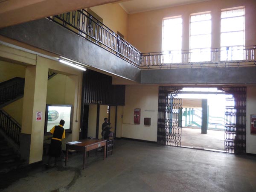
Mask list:
[[[49,72],[48,80],[57,73]],[[17,169],[25,160],[20,160],[21,126],[2,108],[24,95],[25,79],[12,78],[0,83],[0,174]],[[15,150],[17,149],[17,150]]]

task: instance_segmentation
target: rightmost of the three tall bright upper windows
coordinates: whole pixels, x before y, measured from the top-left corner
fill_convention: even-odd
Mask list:
[[[244,59],[244,8],[221,12],[221,61]]]

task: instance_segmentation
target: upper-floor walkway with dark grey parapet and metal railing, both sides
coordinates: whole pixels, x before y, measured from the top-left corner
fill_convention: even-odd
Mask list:
[[[84,9],[6,27],[0,35],[140,83],[256,83],[256,46],[142,53]]]

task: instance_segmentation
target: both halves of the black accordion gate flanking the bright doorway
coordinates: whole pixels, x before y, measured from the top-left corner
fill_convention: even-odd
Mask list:
[[[159,87],[157,143],[181,145],[182,87]],[[227,153],[246,153],[246,87],[225,91],[225,138]]]

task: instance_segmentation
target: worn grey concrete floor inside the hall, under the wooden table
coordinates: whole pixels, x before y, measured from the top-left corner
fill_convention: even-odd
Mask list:
[[[256,192],[256,157],[116,140],[113,156],[70,155],[65,168],[12,173],[1,192]],[[59,162],[60,163],[60,162]],[[23,174],[23,175],[22,175]],[[10,180],[3,176],[1,182]],[[3,183],[2,185],[3,186]]]

